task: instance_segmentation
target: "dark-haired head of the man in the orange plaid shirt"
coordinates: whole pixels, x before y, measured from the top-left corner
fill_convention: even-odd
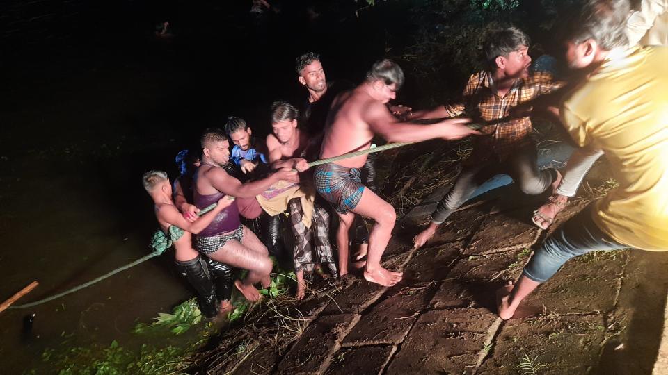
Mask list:
[[[529,37],[516,27],[490,31],[483,43],[485,60],[491,72],[501,70],[507,76],[527,76],[531,58]]]

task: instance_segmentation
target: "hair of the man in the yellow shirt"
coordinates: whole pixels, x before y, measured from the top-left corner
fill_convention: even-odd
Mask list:
[[[564,42],[574,44],[593,39],[607,51],[626,47],[629,12],[628,0],[580,0],[569,8],[566,17],[559,22],[559,37]]]

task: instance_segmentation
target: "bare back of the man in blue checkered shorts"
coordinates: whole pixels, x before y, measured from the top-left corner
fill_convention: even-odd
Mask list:
[[[340,94],[334,100],[327,117],[320,157],[331,158],[368,149],[374,133],[363,119],[363,113],[372,106],[382,106],[382,104],[360,88]],[[363,155],[340,160],[336,164],[349,168],[360,168],[366,160],[367,156]]]

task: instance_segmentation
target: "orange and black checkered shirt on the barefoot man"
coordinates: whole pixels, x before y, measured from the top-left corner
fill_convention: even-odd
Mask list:
[[[490,72],[478,72],[468,79],[461,99],[445,106],[450,116],[465,114],[474,121],[493,121],[508,116],[509,110],[520,103],[535,99],[561,88],[564,83],[555,81],[548,72],[535,72],[527,78],[518,78],[505,97],[499,97]],[[518,147],[532,144],[529,117],[512,119],[484,126],[480,131],[486,135],[474,138],[473,153],[468,163],[479,163],[492,157],[499,161]]]

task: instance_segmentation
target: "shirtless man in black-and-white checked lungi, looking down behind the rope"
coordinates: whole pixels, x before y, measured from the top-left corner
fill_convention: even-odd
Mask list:
[[[297,128],[299,111],[285,101],[277,101],[271,106],[271,127],[273,134],[267,136],[269,149],[269,163],[273,168],[295,168],[300,171],[308,169],[305,156],[312,149],[306,132]],[[298,157],[294,157],[298,156]],[[312,186],[312,181],[302,181]],[[309,186],[309,187],[310,187]],[[315,194],[312,189],[307,191]],[[336,275],[336,265],[329,243],[329,214],[327,210],[314,203],[310,228],[302,221],[304,215],[299,198],[293,198],[288,203],[292,233],[296,243],[294,247],[294,272],[297,276],[297,299],[303,299],[306,283],[304,271],[312,272],[319,265],[327,265],[329,271]],[[312,238],[312,240],[311,240]]]

